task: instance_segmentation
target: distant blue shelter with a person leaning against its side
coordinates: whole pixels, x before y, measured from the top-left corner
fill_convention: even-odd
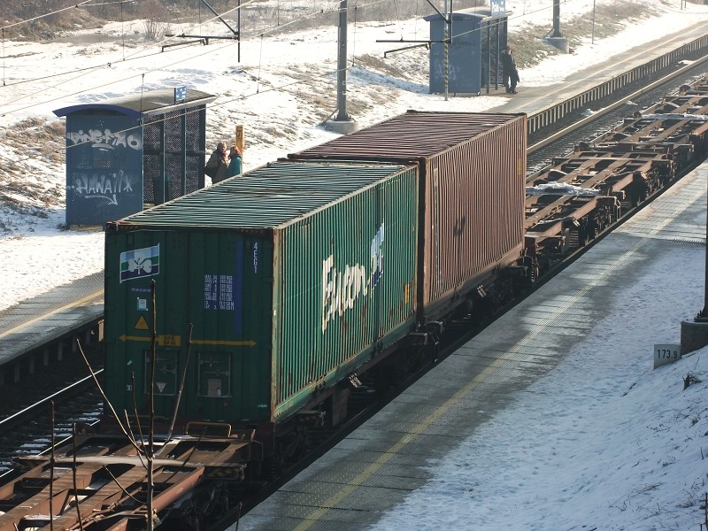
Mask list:
[[[450,13],[450,44],[444,43],[449,29],[440,14],[429,15],[430,94],[447,92],[476,94],[502,84],[499,53],[507,40],[508,13],[504,2]],[[448,46],[447,57],[445,48]],[[447,60],[446,60],[447,58]]]

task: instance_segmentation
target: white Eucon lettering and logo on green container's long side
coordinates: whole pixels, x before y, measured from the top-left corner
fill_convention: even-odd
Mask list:
[[[369,270],[361,264],[335,268],[335,256],[322,260],[322,333],[335,316],[354,307],[360,296],[373,294],[383,275],[383,224],[373,236],[369,255]]]

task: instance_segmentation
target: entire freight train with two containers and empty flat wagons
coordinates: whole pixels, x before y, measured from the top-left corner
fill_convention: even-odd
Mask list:
[[[703,160],[707,116],[703,81],[527,179],[524,114],[406,112],[109,223],[111,407],[21,459],[0,531],[45,525],[50,485],[62,528],[233,510],[361,380],[425,364],[450,319],[489,314]]]

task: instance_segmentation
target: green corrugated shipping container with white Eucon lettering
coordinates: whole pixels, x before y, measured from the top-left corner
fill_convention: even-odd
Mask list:
[[[186,374],[178,425],[287,419],[407,335],[417,189],[404,165],[275,162],[109,223],[114,408],[135,388],[147,412],[153,328],[158,416]]]

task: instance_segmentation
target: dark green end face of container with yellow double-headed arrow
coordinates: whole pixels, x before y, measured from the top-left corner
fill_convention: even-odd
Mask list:
[[[107,235],[106,389],[118,411],[132,412],[135,395],[138,411],[147,413],[154,385],[156,415],[171,418],[186,374],[181,419],[270,419],[268,249],[233,232]]]

